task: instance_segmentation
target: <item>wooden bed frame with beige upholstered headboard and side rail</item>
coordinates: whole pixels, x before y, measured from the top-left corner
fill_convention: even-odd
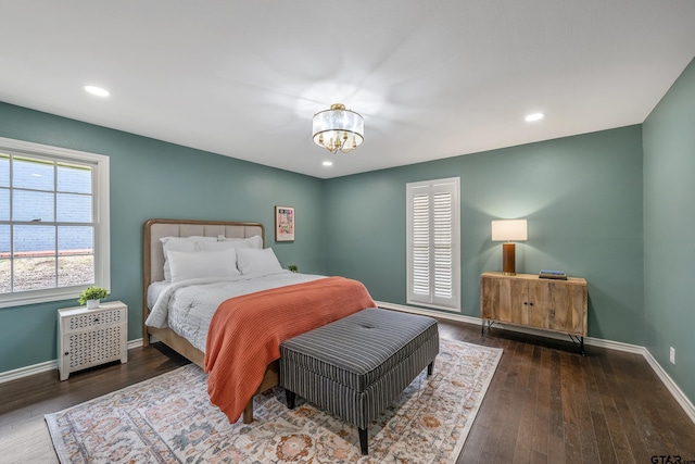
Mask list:
[[[204,367],[205,354],[193,347],[184,337],[170,328],[150,327],[144,324],[150,310],[148,308],[148,287],[153,281],[164,280],[164,251],[162,237],[217,237],[249,238],[260,235],[265,248],[265,228],[261,223],[238,223],[227,221],[195,221],[195,220],[149,220],[144,223],[142,234],[143,250],[143,281],[142,281],[142,344],[150,346],[150,336],[172,348],[201,367]],[[265,376],[256,393],[278,385],[278,362],[274,361],[266,368]],[[253,422],[253,399],[243,412],[243,422]]]

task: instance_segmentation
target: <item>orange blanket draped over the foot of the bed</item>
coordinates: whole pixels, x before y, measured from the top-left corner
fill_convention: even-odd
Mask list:
[[[237,422],[266,366],[280,358],[280,342],[376,306],[362,283],[344,277],[230,298],[213,315],[207,333],[210,400]]]

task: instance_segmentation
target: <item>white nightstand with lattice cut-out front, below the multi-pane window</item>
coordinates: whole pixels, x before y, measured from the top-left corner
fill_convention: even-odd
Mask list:
[[[121,360],[128,362],[128,306],[121,301],[58,310],[58,371],[70,373]]]

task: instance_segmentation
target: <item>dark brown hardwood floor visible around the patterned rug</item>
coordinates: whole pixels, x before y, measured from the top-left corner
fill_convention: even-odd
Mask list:
[[[695,462],[695,424],[642,355],[447,321],[440,334],[504,349],[458,463]],[[0,434],[188,363],[157,344],[65,381],[0,384]]]

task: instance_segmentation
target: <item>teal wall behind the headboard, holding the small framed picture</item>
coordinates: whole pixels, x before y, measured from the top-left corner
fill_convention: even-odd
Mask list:
[[[325,272],[320,179],[1,102],[0,137],[110,156],[109,299],[128,305],[130,340],[142,336],[142,225],[148,218],[262,222],[266,246],[283,266]],[[276,204],[295,208],[294,242],[275,242]],[[0,309],[0,373],[54,360],[56,309],[74,305],[70,300]]]

